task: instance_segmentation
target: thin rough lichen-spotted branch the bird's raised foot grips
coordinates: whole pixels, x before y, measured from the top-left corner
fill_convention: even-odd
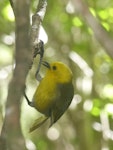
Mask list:
[[[46,0],[39,0],[39,4],[37,5],[36,12],[32,16],[32,26],[31,26],[31,32],[30,32],[30,43],[31,43],[31,48],[33,49],[32,64],[36,55],[40,54],[40,60],[39,60],[36,75],[35,75],[36,79],[38,79],[38,72],[40,70],[40,66],[41,66],[41,62],[42,62],[42,58],[44,54],[43,42],[39,41],[39,30],[40,30],[40,26],[42,24],[43,18],[45,16],[46,6],[47,6]],[[32,64],[31,64],[31,68],[32,68]]]

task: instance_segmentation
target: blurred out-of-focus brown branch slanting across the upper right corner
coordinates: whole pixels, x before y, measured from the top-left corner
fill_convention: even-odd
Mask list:
[[[82,15],[86,23],[93,30],[98,42],[105,48],[108,55],[113,59],[113,39],[102,27],[99,21],[90,13],[88,6],[82,0],[71,0],[75,10]]]

